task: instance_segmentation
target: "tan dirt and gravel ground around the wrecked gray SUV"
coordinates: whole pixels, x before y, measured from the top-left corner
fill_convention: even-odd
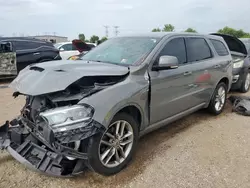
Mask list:
[[[0,88],[0,121],[17,115],[23,98]],[[0,187],[250,187],[250,119],[225,112],[195,113],[140,140],[137,155],[123,172],[103,177],[86,172],[70,179],[25,169],[0,151]]]

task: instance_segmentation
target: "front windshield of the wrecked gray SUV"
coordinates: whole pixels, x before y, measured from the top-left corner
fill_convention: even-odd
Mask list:
[[[160,39],[121,37],[109,39],[81,57],[82,60],[121,65],[138,65]]]

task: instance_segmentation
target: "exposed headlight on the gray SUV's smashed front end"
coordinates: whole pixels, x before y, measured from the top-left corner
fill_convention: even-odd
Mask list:
[[[89,105],[59,107],[40,113],[53,132],[84,127],[92,119],[94,109]]]

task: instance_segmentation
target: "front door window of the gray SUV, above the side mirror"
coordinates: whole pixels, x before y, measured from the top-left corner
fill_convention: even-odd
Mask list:
[[[184,38],[175,38],[169,41],[162,49],[160,56],[169,55],[177,57],[180,64],[186,63],[186,47]]]

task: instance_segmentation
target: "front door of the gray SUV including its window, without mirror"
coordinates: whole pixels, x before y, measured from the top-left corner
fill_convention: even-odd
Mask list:
[[[151,80],[150,124],[157,123],[194,107],[194,75],[192,67],[187,63],[184,38],[178,37],[167,41],[157,56],[169,55],[178,59],[177,69],[149,71]]]

